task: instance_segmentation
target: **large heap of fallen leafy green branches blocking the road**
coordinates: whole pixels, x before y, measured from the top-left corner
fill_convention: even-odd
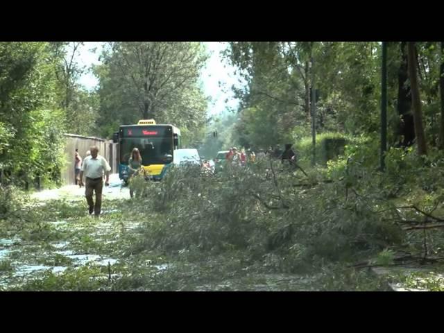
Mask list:
[[[149,250],[248,250],[253,260],[295,272],[362,251],[376,254],[402,239],[373,210],[377,198],[348,200],[346,182],[324,183],[316,169],[306,177],[280,169],[280,162],[258,161],[216,176],[190,175],[173,169],[162,182],[146,183],[144,207],[162,213],[145,223]]]

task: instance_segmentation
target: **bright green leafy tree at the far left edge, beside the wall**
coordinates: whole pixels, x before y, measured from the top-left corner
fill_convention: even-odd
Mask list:
[[[0,169],[20,184],[40,175],[57,178],[63,155],[64,114],[56,105],[57,81],[45,42],[0,43]]]

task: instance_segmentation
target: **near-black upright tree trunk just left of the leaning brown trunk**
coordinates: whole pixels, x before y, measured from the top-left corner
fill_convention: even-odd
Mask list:
[[[406,42],[401,42],[400,44],[401,64],[398,71],[398,114],[400,116],[398,135],[400,136],[400,146],[403,147],[411,146],[415,139],[413,114],[411,114],[410,87],[405,84],[409,78],[405,44]]]

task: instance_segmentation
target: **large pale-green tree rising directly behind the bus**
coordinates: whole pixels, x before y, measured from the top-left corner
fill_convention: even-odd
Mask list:
[[[207,101],[200,69],[207,55],[196,42],[112,42],[105,49],[99,76],[102,135],[119,123],[154,118],[185,126],[189,134],[205,123]],[[112,121],[110,121],[112,119]],[[186,130],[185,130],[186,132]]]

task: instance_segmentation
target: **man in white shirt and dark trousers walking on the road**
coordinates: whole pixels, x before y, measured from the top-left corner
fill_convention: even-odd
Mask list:
[[[105,186],[110,185],[110,164],[105,160],[105,157],[99,155],[99,148],[92,146],[91,155],[85,157],[82,168],[80,169],[80,184],[83,185],[83,173],[86,177],[85,197],[89,205],[89,214],[94,212],[98,217],[102,207],[102,189],[103,189],[103,173],[105,173]],[[96,192],[96,205],[92,200],[92,192]]]

